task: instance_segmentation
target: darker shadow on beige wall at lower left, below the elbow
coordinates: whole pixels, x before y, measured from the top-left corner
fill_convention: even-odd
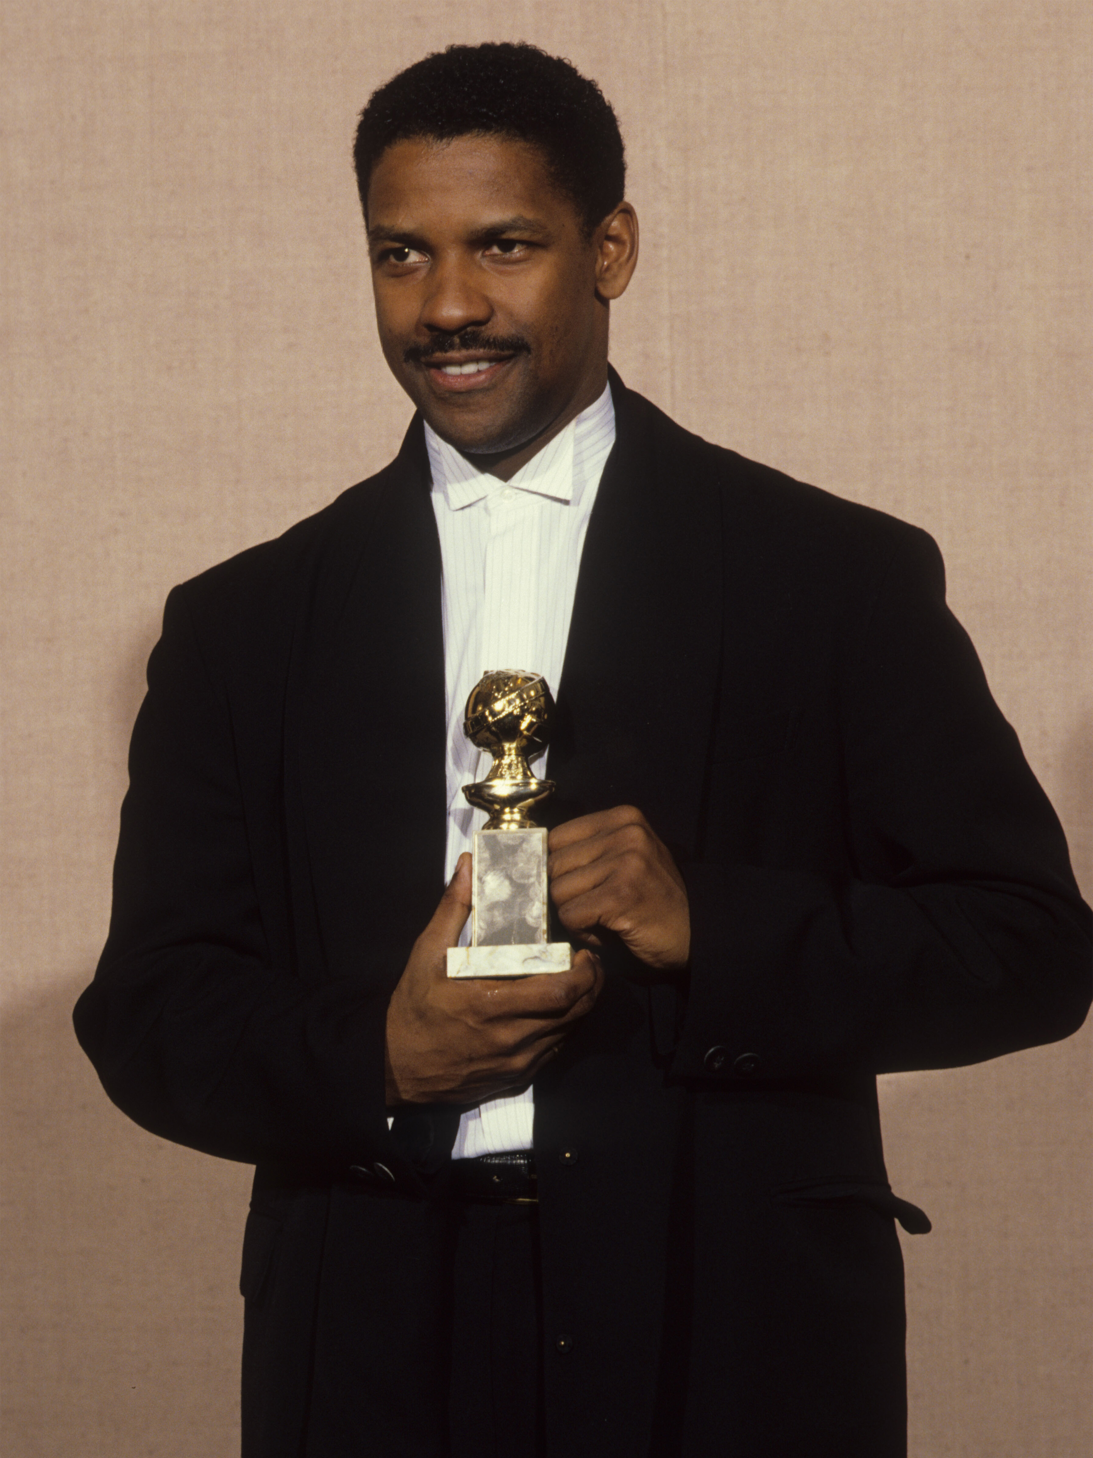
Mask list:
[[[0,1029],[4,1454],[238,1452],[251,1169],[109,1104],[71,1031],[89,978],[16,1005]]]

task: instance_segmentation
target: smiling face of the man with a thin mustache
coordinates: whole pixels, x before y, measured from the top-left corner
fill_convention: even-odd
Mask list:
[[[538,149],[398,141],[373,169],[367,222],[383,354],[437,434],[513,452],[596,399],[609,227],[584,236]]]

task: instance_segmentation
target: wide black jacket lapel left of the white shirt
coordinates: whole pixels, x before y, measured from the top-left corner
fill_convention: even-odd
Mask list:
[[[334,516],[293,675],[326,970],[370,965],[392,984],[443,885],[444,660],[428,480],[415,418],[392,465]]]

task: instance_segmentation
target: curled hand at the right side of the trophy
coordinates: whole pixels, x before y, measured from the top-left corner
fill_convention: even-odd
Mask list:
[[[682,971],[691,958],[691,910],[672,853],[632,805],[581,815],[551,831],[551,897],[567,932],[592,946],[615,932],[638,961]]]

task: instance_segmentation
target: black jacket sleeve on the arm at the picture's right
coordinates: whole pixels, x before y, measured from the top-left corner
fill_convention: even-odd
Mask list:
[[[955,1067],[1067,1037],[1090,916],[924,532],[842,636],[845,875],[683,866],[679,1076]]]

